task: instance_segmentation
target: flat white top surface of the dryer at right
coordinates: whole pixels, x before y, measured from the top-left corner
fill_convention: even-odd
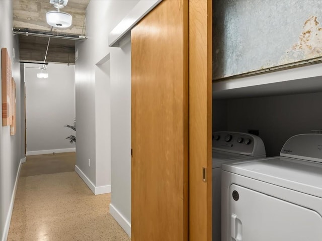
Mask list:
[[[322,163],[272,157],[222,164],[222,170],[322,198]]]

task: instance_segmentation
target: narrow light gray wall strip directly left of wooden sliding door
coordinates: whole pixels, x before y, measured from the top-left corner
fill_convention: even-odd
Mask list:
[[[120,41],[111,68],[111,204],[131,223],[131,41]]]

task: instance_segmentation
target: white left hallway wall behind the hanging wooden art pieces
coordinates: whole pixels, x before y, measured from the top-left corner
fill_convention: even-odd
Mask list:
[[[0,125],[0,238],[6,240],[10,218],[13,208],[17,177],[20,170],[20,162],[24,157],[21,153],[21,96],[20,96],[20,63],[18,38],[12,34],[13,1],[0,1],[0,48],[7,48],[11,60],[13,60],[13,48],[15,48],[15,60],[12,65],[12,76],[16,81],[16,116],[17,132],[10,136],[10,127]],[[1,65],[0,65],[1,76]],[[2,76],[1,76],[2,77]],[[0,78],[1,79],[1,78]],[[2,87],[0,85],[0,93]],[[0,105],[2,113],[2,105]]]

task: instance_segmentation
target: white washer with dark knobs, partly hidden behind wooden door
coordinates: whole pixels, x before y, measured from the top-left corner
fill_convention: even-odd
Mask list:
[[[221,239],[221,165],[266,157],[261,138],[237,132],[215,132],[212,142],[212,240]]]

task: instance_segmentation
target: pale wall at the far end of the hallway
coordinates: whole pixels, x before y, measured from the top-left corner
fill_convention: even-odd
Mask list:
[[[74,65],[49,63],[47,79],[34,67],[41,65],[25,64],[27,155],[73,151],[65,138],[75,132],[64,126],[75,118]]]

